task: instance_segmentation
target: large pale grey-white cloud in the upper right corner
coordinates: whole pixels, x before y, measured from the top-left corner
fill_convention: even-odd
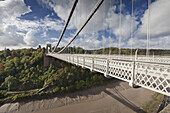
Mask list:
[[[157,0],[150,5],[150,34],[151,37],[170,35],[170,0]],[[148,10],[141,18],[142,25],[138,30],[139,36],[146,36],[148,24]]]

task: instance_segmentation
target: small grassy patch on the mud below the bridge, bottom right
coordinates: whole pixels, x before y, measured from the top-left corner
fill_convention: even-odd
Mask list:
[[[152,101],[143,106],[143,110],[146,113],[156,113],[157,110],[159,109],[159,105],[161,104],[162,100],[163,95],[160,93],[155,93],[152,96]]]

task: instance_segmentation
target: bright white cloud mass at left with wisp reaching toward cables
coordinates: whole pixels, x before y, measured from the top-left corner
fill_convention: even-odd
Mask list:
[[[43,31],[42,36],[46,37],[48,30],[62,30],[63,21],[51,19],[48,15],[34,21],[18,18],[30,12],[30,6],[26,6],[24,0],[0,1],[0,48],[35,47],[39,44],[39,37],[35,37],[33,31]]]

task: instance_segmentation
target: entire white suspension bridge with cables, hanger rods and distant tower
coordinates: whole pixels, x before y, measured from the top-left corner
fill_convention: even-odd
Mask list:
[[[82,22],[82,26],[77,30],[73,38],[61,50],[56,51],[62,40],[65,30],[74,13],[78,0],[74,0],[68,19],[65,22],[63,31],[59,37],[57,45],[52,50],[51,44],[47,44],[46,56],[51,56],[68,63],[82,66],[103,73],[105,77],[114,77],[126,82],[129,82],[131,87],[141,86],[149,90],[170,96],[170,57],[149,56],[150,48],[150,25],[148,13],[148,27],[147,27],[147,50],[146,56],[138,55],[136,50],[135,55],[121,55],[121,35],[119,37],[119,53],[118,55],[111,54],[69,54],[62,52],[66,50],[69,45],[76,39],[83,28],[87,25],[90,19],[94,16],[104,0],[98,0],[87,19]],[[150,0],[148,0],[148,10],[150,10]],[[120,34],[121,34],[121,10],[122,0],[120,0]],[[133,16],[133,0],[132,0],[132,16]]]

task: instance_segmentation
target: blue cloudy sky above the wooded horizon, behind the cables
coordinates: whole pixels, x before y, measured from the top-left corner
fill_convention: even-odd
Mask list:
[[[79,0],[60,43],[65,46],[98,0]],[[70,46],[146,48],[148,1],[105,0]],[[0,0],[0,50],[57,44],[73,0]],[[170,49],[170,0],[151,0],[150,49]],[[120,27],[121,22],[121,27]]]

